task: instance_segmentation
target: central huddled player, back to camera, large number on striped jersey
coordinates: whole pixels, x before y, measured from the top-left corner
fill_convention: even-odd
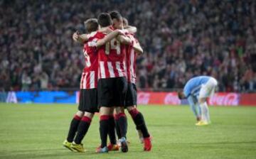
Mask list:
[[[102,28],[110,28],[112,19],[109,13],[101,13],[98,23]],[[98,39],[105,35],[98,35]],[[130,45],[131,40],[122,35],[98,48],[99,81],[98,102],[100,106],[100,137],[101,146],[97,153],[107,153],[107,133],[110,130],[110,116],[113,116],[115,106],[124,106],[127,92],[127,79],[125,79],[125,45]],[[122,123],[122,122],[120,122]],[[128,151],[126,138],[121,138],[122,152]]]

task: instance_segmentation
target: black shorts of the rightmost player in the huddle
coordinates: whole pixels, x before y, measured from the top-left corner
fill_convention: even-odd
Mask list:
[[[125,98],[125,107],[137,105],[137,87],[135,84],[128,82],[127,96]]]

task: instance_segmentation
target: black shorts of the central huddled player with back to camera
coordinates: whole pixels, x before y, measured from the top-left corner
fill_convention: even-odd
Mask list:
[[[127,79],[125,77],[99,79],[97,92],[99,106],[124,106]]]

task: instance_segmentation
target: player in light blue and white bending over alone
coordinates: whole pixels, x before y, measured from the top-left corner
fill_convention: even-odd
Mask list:
[[[188,99],[191,110],[198,121],[196,126],[210,124],[210,114],[206,99],[213,96],[217,85],[218,82],[213,77],[193,77],[186,83],[183,92],[178,92],[179,99]]]

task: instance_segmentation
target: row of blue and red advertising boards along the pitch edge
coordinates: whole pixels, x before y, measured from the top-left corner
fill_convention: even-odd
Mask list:
[[[79,92],[8,92],[0,94],[0,102],[78,104]],[[181,105],[176,92],[138,92],[138,104]],[[219,92],[208,100],[214,106],[256,106],[256,94]]]

